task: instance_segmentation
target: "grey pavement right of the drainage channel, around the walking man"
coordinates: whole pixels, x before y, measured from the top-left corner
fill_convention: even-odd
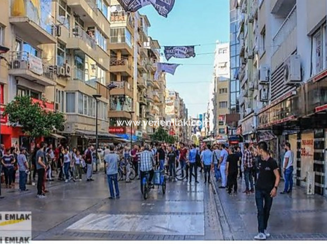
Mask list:
[[[327,240],[327,199],[319,195],[306,195],[305,189],[296,187],[293,193],[282,195],[280,184],[274,198],[268,231],[274,240]],[[257,210],[254,194],[246,195],[244,180],[238,180],[237,196],[230,196],[225,189],[215,189],[226,215],[228,228],[224,235],[234,240],[253,240],[257,234]]]

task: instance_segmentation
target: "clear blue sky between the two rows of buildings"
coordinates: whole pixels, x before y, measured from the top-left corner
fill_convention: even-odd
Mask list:
[[[229,0],[176,0],[167,19],[152,6],[146,6],[140,12],[148,16],[151,23],[149,35],[159,40],[162,47],[229,41]],[[215,44],[196,47],[197,53],[214,51]],[[189,115],[206,112],[214,54],[190,59],[171,58],[169,63],[185,65],[179,66],[174,76],[166,75],[167,87],[180,93]]]

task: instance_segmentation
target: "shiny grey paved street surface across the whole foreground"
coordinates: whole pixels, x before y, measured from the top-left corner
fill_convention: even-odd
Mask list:
[[[257,230],[254,194],[230,196],[216,183],[167,182],[166,193],[152,189],[144,200],[138,180],[119,182],[120,199],[108,199],[103,172],[93,182],[49,182],[44,199],[35,186],[20,193],[3,189],[0,211],[31,211],[34,240],[252,240]],[[282,185],[281,185],[282,187]],[[272,240],[327,238],[327,200],[302,188],[274,198]]]

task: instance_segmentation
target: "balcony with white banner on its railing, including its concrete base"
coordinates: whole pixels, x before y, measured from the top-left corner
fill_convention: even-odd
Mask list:
[[[55,86],[54,66],[45,64],[41,58],[28,52],[9,53],[9,74],[34,81],[42,86]]]

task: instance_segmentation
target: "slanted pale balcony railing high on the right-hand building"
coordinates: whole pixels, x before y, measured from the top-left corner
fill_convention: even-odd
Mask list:
[[[279,47],[283,44],[284,40],[289,36],[297,25],[297,11],[296,5],[286,17],[282,26],[277,31],[276,35],[272,39],[273,53],[275,53]]]

